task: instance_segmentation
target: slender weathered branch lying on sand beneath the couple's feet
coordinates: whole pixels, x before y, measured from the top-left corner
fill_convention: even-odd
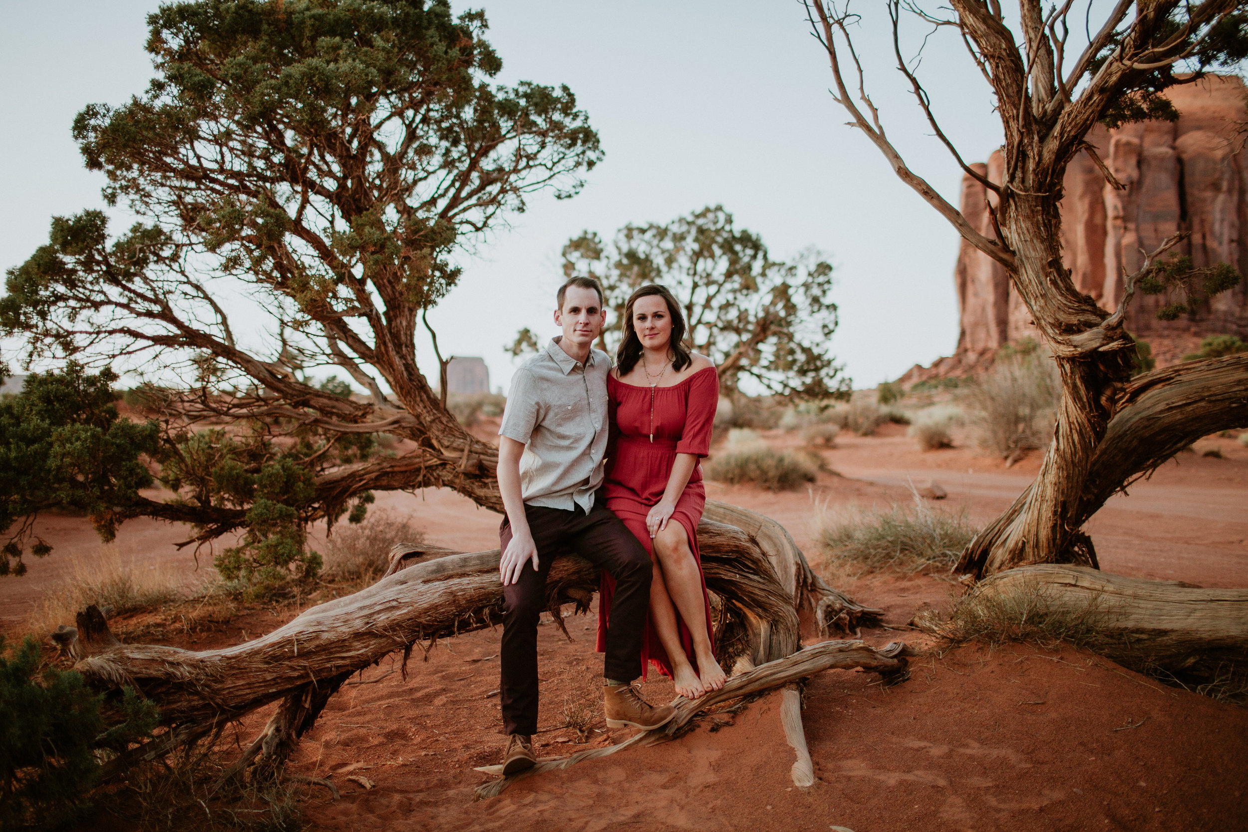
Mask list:
[[[864,670],[880,674],[890,684],[896,684],[906,679],[906,656],[912,655],[915,655],[914,651],[900,641],[892,641],[881,649],[875,649],[864,641],[824,641],[811,645],[790,654],[784,659],[776,659],[775,661],[760,665],[739,676],[734,676],[728,680],[728,684],[724,685],[724,687],[718,691],[711,691],[701,699],[686,700],[684,696],[678,696],[671,701],[671,705],[676,709],[676,715],[661,728],[655,728],[654,731],[641,731],[631,738],[613,746],[590,748],[589,751],[582,751],[569,757],[540,760],[538,761],[538,765],[528,771],[512,775],[510,777],[502,777],[478,786],[477,800],[495,797],[500,795],[504,788],[518,780],[524,780],[525,777],[533,777],[534,775],[540,775],[548,771],[569,768],[578,762],[608,757],[626,748],[666,742],[668,740],[671,740],[673,736],[689,722],[689,720],[709,707],[719,705],[720,702],[739,699],[741,696],[749,696],[750,694],[773,690],[775,687],[787,685],[797,679],[817,674],[821,670],[829,670],[831,667],[840,667],[844,670],[861,667]],[[785,694],[787,695],[789,691],[785,691]],[[794,694],[796,694],[796,691],[794,691]],[[801,736],[800,720],[796,723],[796,732],[797,736]],[[785,733],[790,735],[789,725],[785,726]],[[801,745],[805,747],[805,737],[802,737]],[[806,760],[809,761],[809,756]],[[799,760],[799,763],[800,762],[801,760]],[[503,767],[480,766],[477,771],[487,775],[500,775],[503,773]],[[814,782],[812,775],[814,772],[811,772],[810,782],[805,783],[806,786],[810,786]],[[794,777],[794,782],[797,782],[796,776]]]

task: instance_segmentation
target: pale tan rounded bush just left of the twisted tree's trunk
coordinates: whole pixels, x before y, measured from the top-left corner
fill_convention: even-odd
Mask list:
[[[978,429],[980,447],[1006,458],[1048,444],[1060,394],[1056,364],[1031,352],[998,358],[962,400]]]

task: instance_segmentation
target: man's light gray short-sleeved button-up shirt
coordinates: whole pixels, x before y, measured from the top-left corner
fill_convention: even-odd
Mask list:
[[[554,338],[512,377],[499,435],[524,443],[520,494],[529,505],[594,505],[607,455],[607,353],[582,364]]]

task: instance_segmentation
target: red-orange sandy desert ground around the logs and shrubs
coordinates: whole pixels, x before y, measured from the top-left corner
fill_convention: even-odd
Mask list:
[[[902,433],[890,425],[872,438],[842,435],[825,455],[844,476],[824,474],[806,493],[718,484],[708,491],[785,524],[817,565],[810,529],[816,500],[884,508],[911,499],[907,480],[936,479],[950,494],[943,508],[965,506],[983,523],[1038,465],[1033,457],[1006,469],[960,448],[920,454]],[[1107,571],[1248,585],[1248,449],[1207,439],[1197,450],[1206,447],[1218,447],[1223,458],[1182,454],[1093,518],[1090,530]],[[432,543],[498,545],[498,516],[456,494],[379,501],[417,513]],[[92,551],[84,520],[40,523],[59,549],[32,563],[30,576],[0,584],[9,627],[39,591],[56,586],[65,560]],[[186,559],[190,568],[190,555],[170,546],[182,534],[134,523],[119,545],[140,558]],[[948,599],[950,584],[938,576],[827,578],[884,607],[895,627],[920,604]],[[237,642],[291,615],[255,610],[195,636],[195,646]],[[568,625],[572,644],[553,625],[540,630],[540,725],[552,728],[538,738],[543,756],[588,747],[570,728],[554,727],[582,699],[593,707],[590,745],[626,736],[605,731],[600,718],[593,616]],[[528,778],[473,802],[473,787],[487,780],[473,767],[498,762],[503,743],[498,699],[490,696],[498,637],[489,630],[459,636],[437,645],[428,661],[417,651],[407,681],[397,670],[384,675],[397,667],[386,660],[366,671],[367,684],[348,685],[331,700],[293,762],[295,771],[328,775],[342,790],[337,802],[323,790],[308,792],[311,828],[1248,830],[1248,709],[1161,686],[1088,654],[1020,645],[927,655],[915,661],[911,681],[891,690],[861,672],[814,677],[804,720],[819,783],[807,792],[789,778],[794,756],[773,696],[750,704],[731,725],[706,721],[675,742]],[[886,629],[864,630],[862,637],[926,642],[914,631]],[[168,641],[188,646],[191,637]],[[665,701],[670,682],[651,676],[645,695]],[[247,741],[267,717],[247,718],[240,738]],[[347,781],[351,773],[376,787]]]

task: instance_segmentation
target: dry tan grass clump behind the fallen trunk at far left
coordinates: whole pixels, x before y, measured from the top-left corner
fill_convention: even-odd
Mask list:
[[[74,616],[92,604],[110,617],[155,610],[187,597],[193,581],[167,563],[142,564],[134,554],[122,554],[116,544],[105,544],[87,556],[75,553],[66,578],[47,591],[26,626],[51,632],[59,624],[74,624]]]

